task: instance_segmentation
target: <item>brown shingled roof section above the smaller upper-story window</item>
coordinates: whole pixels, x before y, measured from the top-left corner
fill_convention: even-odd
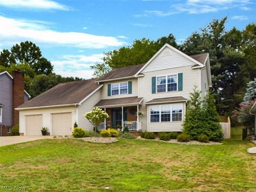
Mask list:
[[[145,64],[132,65],[130,67],[115,68],[108,72],[103,77],[100,77],[97,82],[112,81],[116,79],[128,79],[134,77],[134,75],[140,70]]]

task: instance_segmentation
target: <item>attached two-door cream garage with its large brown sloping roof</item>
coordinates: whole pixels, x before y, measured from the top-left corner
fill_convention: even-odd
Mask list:
[[[92,130],[83,115],[99,102],[102,86],[95,79],[61,83],[15,108],[20,135],[42,135],[42,127],[49,135],[71,135],[75,123]]]

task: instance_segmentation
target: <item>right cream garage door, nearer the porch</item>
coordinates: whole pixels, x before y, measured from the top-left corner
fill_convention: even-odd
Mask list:
[[[52,134],[69,135],[72,134],[72,113],[52,114]]]

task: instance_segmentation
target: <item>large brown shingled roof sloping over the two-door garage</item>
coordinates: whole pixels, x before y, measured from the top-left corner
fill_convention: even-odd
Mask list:
[[[95,79],[60,83],[22,104],[17,109],[78,105],[97,92],[102,86],[95,83]]]

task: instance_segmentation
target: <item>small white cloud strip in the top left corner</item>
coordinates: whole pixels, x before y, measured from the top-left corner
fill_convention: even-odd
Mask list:
[[[0,6],[43,10],[68,10],[67,6],[51,0],[0,0]]]

